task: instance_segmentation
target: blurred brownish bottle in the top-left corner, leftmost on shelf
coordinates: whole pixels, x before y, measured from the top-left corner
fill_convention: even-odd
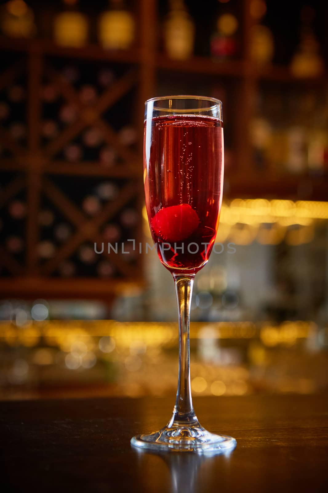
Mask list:
[[[34,14],[23,0],[10,0],[0,11],[1,32],[9,37],[29,38],[36,34]]]

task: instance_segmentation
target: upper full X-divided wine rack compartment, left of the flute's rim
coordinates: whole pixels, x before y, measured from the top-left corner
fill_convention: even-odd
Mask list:
[[[47,60],[41,133],[52,166],[135,163],[136,132],[129,118],[136,80],[134,69]]]

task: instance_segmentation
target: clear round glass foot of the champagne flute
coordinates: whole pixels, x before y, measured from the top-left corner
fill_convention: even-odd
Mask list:
[[[193,425],[172,424],[149,435],[131,438],[131,445],[158,451],[223,453],[234,449],[237,442],[231,436],[215,435],[198,422]]]

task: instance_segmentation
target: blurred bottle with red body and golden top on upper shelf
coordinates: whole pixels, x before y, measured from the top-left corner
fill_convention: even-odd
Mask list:
[[[211,55],[216,59],[233,58],[238,51],[236,32],[238,29],[237,18],[225,13],[218,17],[217,30],[211,36]]]

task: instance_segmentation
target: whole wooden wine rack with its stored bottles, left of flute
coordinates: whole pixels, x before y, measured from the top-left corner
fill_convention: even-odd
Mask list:
[[[141,234],[140,69],[15,48],[1,52],[1,294],[108,300],[142,282],[141,255],[120,253]]]

